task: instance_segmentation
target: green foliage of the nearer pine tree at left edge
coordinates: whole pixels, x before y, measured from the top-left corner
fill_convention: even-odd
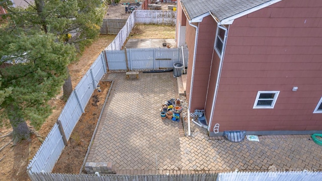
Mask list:
[[[74,51],[73,46],[57,42],[52,34],[27,36],[20,33],[17,37],[0,31],[0,57],[3,57],[0,64],[15,61],[0,69],[0,92],[10,93],[3,96],[0,104],[2,120],[9,118],[14,143],[30,137],[26,120],[39,129],[51,113],[47,102],[64,83],[65,68],[75,58]],[[6,56],[8,54],[10,56]],[[19,58],[22,54],[25,54],[25,62]]]

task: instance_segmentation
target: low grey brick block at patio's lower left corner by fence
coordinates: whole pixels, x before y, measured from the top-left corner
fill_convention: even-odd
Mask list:
[[[112,165],[112,162],[86,162],[85,171],[87,173],[108,173],[116,174],[116,166]]]

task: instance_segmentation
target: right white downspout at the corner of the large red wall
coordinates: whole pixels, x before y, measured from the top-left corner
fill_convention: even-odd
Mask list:
[[[213,18],[215,19],[215,17],[213,17]],[[223,58],[224,58],[224,54],[225,54],[226,41],[227,41],[227,35],[228,35],[228,29],[227,28],[225,28],[224,26],[221,26],[220,22],[218,22],[218,26],[220,26],[222,29],[224,29],[226,31],[226,33],[225,33],[225,36],[224,36],[224,39],[223,39],[223,45],[224,46],[223,46],[223,49],[222,49],[222,52],[221,52],[221,55],[220,55],[219,68],[218,68],[218,74],[217,74],[217,80],[216,80],[216,87],[215,87],[214,97],[213,97],[213,100],[212,100],[210,121],[209,121],[209,125],[208,125],[208,132],[210,131],[211,122],[212,122],[212,119],[213,119],[213,112],[214,112],[214,109],[215,109],[215,103],[216,103],[216,99],[217,99],[218,86],[219,86],[219,80],[220,80],[221,68],[222,68],[222,62],[223,62]]]

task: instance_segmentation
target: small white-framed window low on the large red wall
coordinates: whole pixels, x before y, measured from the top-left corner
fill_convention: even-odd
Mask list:
[[[253,109],[272,109],[280,91],[258,91]]]

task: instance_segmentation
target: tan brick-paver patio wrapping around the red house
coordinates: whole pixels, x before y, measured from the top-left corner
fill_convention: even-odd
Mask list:
[[[269,170],[322,170],[322,146],[309,135],[263,136],[260,142],[231,143],[209,138],[192,123],[191,137],[179,124],[162,120],[159,108],[178,98],[171,73],[111,73],[115,80],[87,162],[108,162],[118,174],[164,174]]]

